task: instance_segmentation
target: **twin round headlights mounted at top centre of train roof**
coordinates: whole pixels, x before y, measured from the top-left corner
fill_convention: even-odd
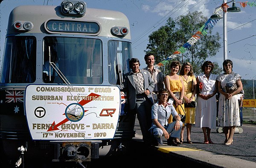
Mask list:
[[[86,3],[81,0],[64,0],[61,3],[61,11],[64,15],[81,15],[86,12]]]

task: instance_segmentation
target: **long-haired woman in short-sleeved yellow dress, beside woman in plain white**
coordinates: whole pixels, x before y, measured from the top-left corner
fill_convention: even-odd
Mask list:
[[[195,103],[195,94],[196,94],[196,88],[197,88],[197,83],[196,83],[196,78],[194,76],[193,68],[192,65],[189,62],[185,62],[180,70],[180,76],[182,76],[183,79],[183,84],[184,84],[184,97],[183,97],[183,102],[185,104],[192,105],[192,101]],[[195,105],[195,104],[193,104]],[[191,128],[192,124],[195,124],[195,107],[186,107],[184,109],[186,113],[186,131],[187,131],[187,143],[192,144],[191,141]],[[181,134],[180,134],[180,142],[183,141],[183,134],[184,134],[184,126],[181,129]]]

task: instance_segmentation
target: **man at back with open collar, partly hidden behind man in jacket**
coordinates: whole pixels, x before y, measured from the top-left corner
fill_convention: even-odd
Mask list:
[[[157,100],[157,93],[160,89],[164,88],[163,84],[163,74],[162,72],[154,67],[154,55],[152,53],[147,53],[144,56],[145,62],[148,65],[147,67],[143,68],[143,70],[148,70],[148,72],[151,74],[151,78],[154,81],[154,90],[152,92],[152,96],[154,99],[154,103],[156,103]]]

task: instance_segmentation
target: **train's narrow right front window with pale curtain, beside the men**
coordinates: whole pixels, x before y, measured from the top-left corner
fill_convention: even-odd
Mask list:
[[[108,42],[108,80],[110,84],[122,84],[123,74],[130,71],[129,60],[131,58],[131,43],[113,40]]]

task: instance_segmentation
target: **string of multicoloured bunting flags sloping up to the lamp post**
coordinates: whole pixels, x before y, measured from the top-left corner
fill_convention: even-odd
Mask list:
[[[256,6],[256,3],[255,2],[239,2],[241,7],[246,7],[247,4],[249,6]],[[219,16],[221,18],[221,12],[224,11],[224,12],[227,12],[227,8],[229,8],[229,6],[227,5],[227,3],[224,3],[221,5],[220,8],[216,9],[214,11],[213,14],[216,14],[217,16]],[[221,10],[222,9],[222,10]],[[180,53],[185,53],[186,50],[188,50],[190,47],[192,47],[193,45],[195,45],[195,43],[201,38],[201,36],[204,36],[207,34],[207,31],[209,31],[210,29],[212,29],[216,24],[217,22],[219,21],[220,19],[211,19],[209,18],[207,20],[207,22],[194,34],[192,35],[192,37],[182,46],[180,47],[177,51],[175,51],[174,53],[172,53],[171,56],[168,56],[165,60],[163,60],[162,62],[159,62],[157,64],[157,67],[162,67],[164,66],[166,63],[169,62],[170,59],[173,59],[175,57],[177,57],[178,54]]]

